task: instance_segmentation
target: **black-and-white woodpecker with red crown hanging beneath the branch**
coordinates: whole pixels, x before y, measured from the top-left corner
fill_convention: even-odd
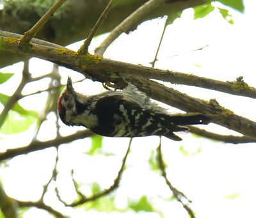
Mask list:
[[[133,84],[87,96],[74,90],[70,77],[58,98],[58,114],[66,125],[84,126],[101,136],[165,136],[175,141],[182,139],[173,132],[189,129],[182,125],[209,123],[200,113],[168,114]]]

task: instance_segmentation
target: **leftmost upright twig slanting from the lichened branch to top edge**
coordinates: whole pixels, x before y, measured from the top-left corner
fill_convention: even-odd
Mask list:
[[[20,38],[19,45],[26,45],[28,44],[33,37],[35,37],[36,33],[42,29],[42,27],[46,24],[46,22],[52,17],[52,15],[60,8],[62,4],[65,3],[67,0],[57,0],[56,3],[54,3],[51,8],[44,14],[43,17],[41,17],[36,24],[29,29],[29,31],[26,31],[26,33]]]

